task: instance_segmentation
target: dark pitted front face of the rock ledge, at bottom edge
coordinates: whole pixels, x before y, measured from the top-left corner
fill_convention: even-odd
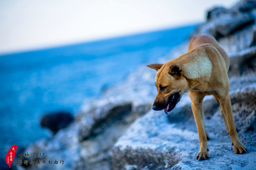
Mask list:
[[[112,164],[113,170],[160,170],[172,167],[180,161],[180,155],[173,148],[168,152],[162,151],[166,147],[151,148],[113,148]]]

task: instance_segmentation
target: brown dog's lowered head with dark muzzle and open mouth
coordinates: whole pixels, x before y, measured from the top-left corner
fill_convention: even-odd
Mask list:
[[[184,93],[189,89],[188,81],[183,76],[183,71],[179,65],[172,64],[171,61],[165,64],[147,65],[157,71],[156,87],[157,96],[152,109],[164,112],[172,111],[180,101]]]

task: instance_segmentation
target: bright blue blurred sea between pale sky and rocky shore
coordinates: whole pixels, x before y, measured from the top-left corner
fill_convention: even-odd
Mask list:
[[[75,114],[85,99],[169,54],[196,26],[0,56],[0,158],[14,144],[19,150],[51,136],[39,125],[44,113]]]

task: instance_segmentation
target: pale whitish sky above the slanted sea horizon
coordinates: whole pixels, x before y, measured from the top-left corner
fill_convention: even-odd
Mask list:
[[[237,0],[0,0],[0,54],[204,22]]]

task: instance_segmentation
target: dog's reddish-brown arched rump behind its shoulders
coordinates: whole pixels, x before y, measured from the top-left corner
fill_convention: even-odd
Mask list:
[[[203,35],[198,35],[195,37],[192,37],[192,39],[189,42],[189,47],[188,51],[198,48],[201,45],[212,45],[213,47],[217,48],[221,56],[223,57],[225,64],[226,64],[226,69],[228,71],[229,69],[229,58],[227,56],[227,53],[224,51],[223,48],[221,48],[218,45],[218,42],[215,40],[214,37],[211,35],[203,34]]]

